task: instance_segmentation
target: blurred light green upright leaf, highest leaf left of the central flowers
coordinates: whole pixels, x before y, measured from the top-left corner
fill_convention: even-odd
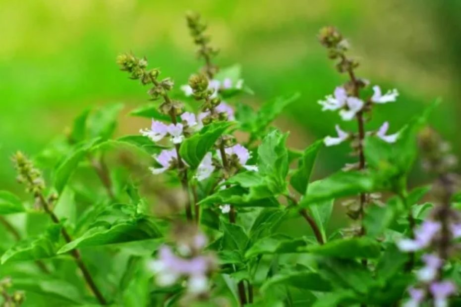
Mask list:
[[[122,103],[108,104],[88,118],[88,133],[90,138],[102,138],[107,140],[114,134],[117,126],[117,117],[123,109]]]

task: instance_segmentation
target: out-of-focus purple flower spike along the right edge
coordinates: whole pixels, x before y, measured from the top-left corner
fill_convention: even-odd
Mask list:
[[[455,284],[444,279],[443,268],[456,249],[454,241],[461,237],[461,214],[451,207],[451,197],[457,190],[455,176],[448,173],[455,166],[446,144],[432,130],[426,129],[420,134],[420,146],[423,153],[423,166],[438,176],[434,190],[442,203],[435,206],[428,218],[414,229],[413,238],[401,239],[397,246],[403,252],[426,251],[422,256],[424,266],[416,271],[419,281],[417,288],[410,288],[410,300],[406,307],[417,307],[430,295],[436,307],[447,307],[448,298],[457,289]],[[448,156],[448,158],[447,158]],[[429,251],[429,252],[427,252]]]

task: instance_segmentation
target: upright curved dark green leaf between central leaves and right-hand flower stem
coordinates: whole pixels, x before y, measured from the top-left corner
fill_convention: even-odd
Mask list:
[[[306,148],[299,160],[298,168],[291,175],[290,184],[301,195],[306,194],[310,174],[314,167],[314,161],[322,146],[323,140],[318,140]]]

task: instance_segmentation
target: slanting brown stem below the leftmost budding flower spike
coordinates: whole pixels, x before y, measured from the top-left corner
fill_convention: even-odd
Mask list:
[[[36,196],[39,198],[40,203],[42,204],[45,212],[48,215],[50,215],[52,221],[55,224],[61,224],[61,222],[59,221],[58,216],[56,216],[56,214],[51,210],[50,204],[45,199],[43,194],[38,194]],[[65,242],[67,242],[67,243],[72,242],[72,238],[70,237],[67,230],[65,230],[64,226],[61,227],[61,234],[64,237]],[[80,253],[78,252],[78,250],[75,249],[75,250],[70,251],[70,255],[74,258],[75,262],[77,263],[77,266],[80,268],[80,271],[83,274],[83,277],[85,278],[86,283],[88,284],[91,291],[93,292],[93,294],[98,299],[99,303],[101,305],[107,305],[106,300],[104,299],[103,295],[101,294],[98,287],[96,286],[93,278],[91,277],[91,274],[90,274],[88,268],[86,267],[85,263],[83,263],[82,257],[80,256]]]

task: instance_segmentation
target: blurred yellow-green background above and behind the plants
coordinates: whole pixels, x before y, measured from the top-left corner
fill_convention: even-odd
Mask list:
[[[339,117],[317,100],[346,80],[317,42],[336,25],[352,46],[359,75],[401,92],[398,103],[373,114],[399,129],[424,105],[443,104],[431,122],[460,153],[461,1],[445,0],[0,0],[0,186],[14,184],[9,156],[37,153],[85,107],[124,102],[119,134],[137,133],[145,119],[127,112],[147,100],[115,64],[124,51],[146,55],[177,85],[200,66],[184,13],[196,10],[210,25],[220,65],[239,62],[259,103],[299,91],[278,120],[289,144],[302,149],[334,133]],[[355,128],[342,123],[344,128]],[[344,148],[321,155],[319,173],[340,168]]]

